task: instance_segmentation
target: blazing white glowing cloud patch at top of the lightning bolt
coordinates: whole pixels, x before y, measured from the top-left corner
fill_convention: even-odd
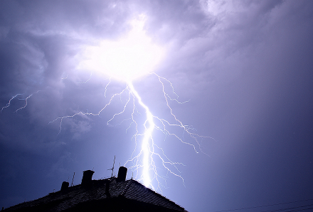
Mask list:
[[[131,21],[132,30],[117,40],[100,41],[99,46],[87,46],[85,60],[78,69],[92,70],[115,80],[132,81],[154,71],[164,50],[152,43],[144,32],[144,16]]]

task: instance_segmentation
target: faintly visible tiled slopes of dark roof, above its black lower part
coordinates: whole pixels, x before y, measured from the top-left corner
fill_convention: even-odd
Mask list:
[[[109,184],[110,189],[106,189],[106,186]],[[170,208],[176,211],[185,211],[184,208],[173,201],[157,194],[133,179],[117,182],[115,177],[110,179],[93,180],[90,186],[72,186],[65,191],[58,191],[34,201],[20,203],[11,208],[7,208],[5,211],[15,211],[20,208],[41,206],[45,204],[52,205],[51,210],[49,209],[49,211],[63,211],[76,206],[78,203],[121,197],[132,201]]]

